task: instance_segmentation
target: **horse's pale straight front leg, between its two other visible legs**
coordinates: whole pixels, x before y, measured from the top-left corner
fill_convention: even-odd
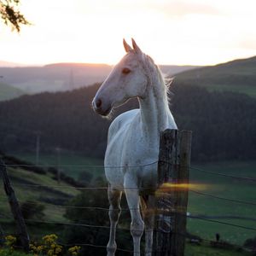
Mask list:
[[[133,239],[133,255],[140,255],[140,242],[143,236],[144,222],[139,209],[139,194],[137,186],[132,186],[130,184],[125,184],[126,200],[131,212],[131,236]]]

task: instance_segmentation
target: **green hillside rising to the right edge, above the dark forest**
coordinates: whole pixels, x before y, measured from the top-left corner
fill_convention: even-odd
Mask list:
[[[234,91],[256,97],[256,56],[179,73],[177,83],[199,85],[207,90]]]

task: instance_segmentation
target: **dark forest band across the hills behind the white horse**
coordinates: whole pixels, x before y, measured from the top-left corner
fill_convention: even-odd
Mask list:
[[[40,132],[44,151],[59,147],[103,157],[111,120],[102,119],[90,107],[98,87],[0,102],[0,150],[35,150]],[[172,93],[170,108],[178,128],[193,131],[192,160],[255,159],[255,99],[182,83],[174,83]],[[113,117],[137,107],[132,100],[117,108]]]

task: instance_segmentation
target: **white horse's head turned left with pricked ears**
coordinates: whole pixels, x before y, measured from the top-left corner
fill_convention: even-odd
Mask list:
[[[119,107],[133,97],[145,95],[148,76],[143,68],[146,55],[134,39],[132,48],[123,40],[126,55],[113,67],[93,99],[92,107],[96,113],[108,116],[112,108]]]

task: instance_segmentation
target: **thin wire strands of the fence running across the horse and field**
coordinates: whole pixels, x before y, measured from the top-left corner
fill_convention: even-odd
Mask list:
[[[12,167],[41,167],[41,168],[49,168],[49,167],[55,167],[55,168],[61,168],[61,167],[79,167],[79,168],[91,168],[91,169],[95,169],[95,168],[143,168],[144,166],[153,166],[153,165],[156,165],[158,164],[158,161],[154,161],[154,162],[151,162],[151,163],[148,163],[148,164],[145,164],[145,165],[142,165],[142,166],[90,166],[90,165],[38,165],[38,166],[35,166],[35,165],[19,165],[19,164],[8,164],[8,165],[5,165],[6,167],[8,168],[12,168]],[[216,176],[222,176],[222,177],[227,177],[227,178],[232,178],[232,179],[237,179],[237,180],[240,180],[240,181],[247,181],[247,182],[256,182],[256,178],[254,177],[241,177],[241,176],[236,176],[236,175],[230,175],[230,174],[226,174],[226,173],[223,173],[223,172],[212,172],[212,171],[209,171],[209,170],[204,170],[198,166],[190,166],[190,169],[191,170],[195,170],[196,172],[205,172],[207,174],[210,174],[210,175],[216,175]],[[52,189],[79,189],[79,190],[106,190],[108,189],[108,187],[87,187],[87,186],[84,186],[84,187],[76,187],[76,186],[68,186],[68,185],[49,185],[49,184],[31,184],[31,183],[20,183],[20,182],[15,182],[15,187],[26,187],[26,188],[52,188]],[[138,188],[126,188],[126,189],[138,189]],[[139,188],[139,189],[150,189],[150,188]],[[229,201],[230,203],[232,204],[241,204],[241,205],[246,205],[248,207],[255,207],[256,206],[256,202],[253,202],[253,201],[241,201],[241,200],[237,200],[237,199],[232,199],[232,198],[229,198],[229,197],[223,197],[223,196],[218,196],[218,195],[212,195],[210,193],[204,193],[204,192],[201,192],[201,191],[198,191],[196,189],[189,189],[189,192],[195,194],[195,195],[201,195],[201,196],[206,196],[206,197],[209,197],[209,198],[214,198],[216,200],[219,200],[219,201]],[[20,201],[20,200],[19,200]],[[20,203],[23,203],[25,201],[20,201]],[[38,204],[38,202],[42,203],[42,201],[29,201],[28,203],[33,205],[33,204]],[[61,205],[61,204],[55,204],[55,203],[47,203],[47,202],[43,202],[44,205],[46,206],[49,206],[49,207],[61,207],[61,208],[65,208],[65,209],[83,209],[83,210],[93,210],[93,211],[105,211],[105,212],[108,212],[109,209],[107,207],[84,207],[84,206],[73,206],[73,205]],[[110,211],[114,211],[114,210],[117,210],[117,209],[110,209]],[[129,207],[126,207],[126,208],[122,208],[122,211],[131,211],[131,210],[139,210],[138,208],[129,208]],[[6,219],[11,219],[9,218],[9,216],[4,216],[3,214],[0,214],[1,217],[3,218],[6,218]],[[239,216],[239,217],[242,217],[242,216]],[[243,229],[243,230],[253,230],[253,231],[256,231],[255,228],[251,227],[251,226],[246,226],[246,225],[240,225],[240,224],[231,224],[231,223],[228,223],[228,222],[224,222],[224,221],[219,221],[219,220],[216,220],[216,219],[212,219],[212,216],[207,216],[207,215],[201,215],[199,213],[193,213],[193,212],[189,212],[189,215],[187,215],[187,218],[195,218],[195,219],[198,219],[198,220],[201,220],[201,221],[204,221],[204,222],[209,222],[209,223],[215,223],[215,224],[223,224],[223,225],[229,225],[229,226],[232,226],[234,228],[237,228],[237,229]],[[228,218],[230,219],[230,218]],[[93,225],[93,224],[78,224],[78,223],[72,223],[72,222],[56,222],[56,221],[46,221],[46,220],[37,220],[37,219],[31,219],[31,218],[28,218],[26,219],[26,223],[38,223],[38,224],[56,224],[56,225],[72,225],[72,226],[78,226],[78,227],[84,227],[84,228],[90,228],[90,229],[105,229],[105,230],[109,230],[109,227],[108,226],[102,226],[102,225]],[[118,228],[119,230],[121,231],[129,231],[130,232],[130,229],[126,229],[126,228]],[[207,239],[204,239],[204,238],[201,238],[202,241],[208,241],[208,242],[215,242],[215,241],[212,241],[212,240],[207,240]],[[77,244],[67,244],[65,242],[61,242],[60,241],[60,244],[63,245],[63,246],[66,246],[66,247],[69,247],[69,246],[74,246],[74,245],[79,245],[79,246],[84,246],[84,247],[96,247],[96,248],[106,248],[106,246],[104,245],[96,245],[96,244],[89,244],[89,243],[77,243]],[[245,247],[245,246],[241,246],[241,245],[237,245],[237,244],[233,244],[234,246],[236,247],[242,247],[242,248],[245,248],[245,249],[249,249],[251,250],[252,247]],[[126,250],[126,249],[122,249],[122,248],[118,248],[118,250],[120,252],[125,252],[125,253],[134,253],[133,251],[131,250]]]

